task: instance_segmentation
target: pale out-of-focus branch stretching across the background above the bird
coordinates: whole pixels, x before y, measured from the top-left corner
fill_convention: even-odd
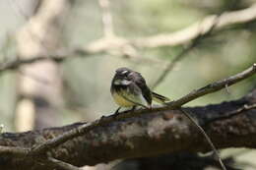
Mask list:
[[[85,57],[107,53],[109,51],[118,51],[121,55],[131,56],[132,54],[130,52],[127,53],[127,51],[124,50],[127,49],[127,46],[136,48],[156,48],[160,46],[175,46],[186,44],[187,42],[197,38],[200,34],[204,34],[209,31],[209,29],[211,29],[211,27],[213,26],[213,23],[215,23],[216,17],[216,15],[206,17],[203,22],[198,22],[188,28],[184,28],[182,30],[171,33],[164,33],[150,37],[141,37],[137,39],[126,39],[117,36],[115,36],[114,38],[103,37],[85,46],[70,49],[67,51],[61,51],[56,54],[34,56],[32,59],[16,59],[14,61],[0,64],[0,72],[17,69],[21,65],[32,64],[34,62],[39,62],[42,60],[53,60],[56,62],[62,62],[66,59],[72,58],[71,56]],[[222,28],[231,27],[237,24],[245,24],[255,20],[256,4],[244,10],[224,13],[224,15],[222,15],[222,17],[218,20],[218,24],[214,28],[214,30],[220,30]],[[134,56],[132,57],[134,58]],[[148,60],[148,58],[139,57],[137,55],[135,56],[135,58],[141,60]]]

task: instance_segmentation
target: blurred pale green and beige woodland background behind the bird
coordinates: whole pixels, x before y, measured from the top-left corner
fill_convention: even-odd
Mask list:
[[[196,23],[200,26],[211,15],[251,9],[254,3],[255,0],[0,1],[0,124],[4,124],[6,132],[23,132],[93,121],[111,114],[117,105],[109,88],[117,68],[136,70],[153,86],[168,64],[193,43],[188,39],[151,44],[156,35],[182,32]],[[239,17],[242,16],[234,16]],[[176,38],[182,36],[186,34],[180,33]],[[6,63],[55,54],[65,56],[65,60],[39,60],[15,70],[1,69]],[[256,17],[202,37],[175,63],[155,91],[177,99],[255,62]],[[187,105],[233,100],[255,85],[256,78],[252,77]],[[256,169],[253,150],[227,149],[222,154],[234,155],[246,170]]]

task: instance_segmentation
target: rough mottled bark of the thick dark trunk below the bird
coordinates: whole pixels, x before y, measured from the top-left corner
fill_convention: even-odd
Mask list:
[[[238,100],[185,109],[197,118],[218,148],[255,148],[255,104],[256,89]],[[0,144],[32,147],[33,144],[45,142],[83,124],[75,123],[26,133],[4,133],[0,136]],[[96,126],[86,135],[52,149],[49,154],[73,165],[83,166],[118,158],[210,149],[198,130],[179,110],[166,110]],[[41,155],[41,158],[44,156]],[[0,169],[28,168],[45,170],[47,166],[34,162],[32,157],[24,158],[12,153],[0,158]]]

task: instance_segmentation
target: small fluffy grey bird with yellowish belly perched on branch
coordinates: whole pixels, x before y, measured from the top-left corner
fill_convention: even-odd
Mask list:
[[[159,103],[169,100],[167,97],[153,92],[140,73],[128,68],[119,68],[115,71],[110,91],[114,101],[120,106],[115,113],[118,113],[121,107],[152,108],[152,100]]]

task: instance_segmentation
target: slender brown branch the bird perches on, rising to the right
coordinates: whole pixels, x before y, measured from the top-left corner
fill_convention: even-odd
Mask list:
[[[54,148],[55,146],[57,146],[63,142],[67,142],[67,141],[69,141],[75,137],[78,137],[78,136],[82,136],[83,134],[89,132],[90,130],[92,130],[93,128],[95,128],[98,125],[104,125],[109,122],[115,121],[116,119],[133,117],[135,115],[138,116],[140,114],[145,114],[145,113],[149,113],[149,112],[153,112],[153,111],[180,108],[183,104],[185,104],[191,100],[194,100],[194,99],[196,99],[200,96],[206,95],[208,93],[212,93],[214,91],[220,90],[220,89],[224,88],[225,85],[233,85],[235,83],[238,83],[238,82],[254,75],[255,73],[256,73],[256,64],[253,64],[252,67],[250,67],[249,69],[247,69],[237,75],[231,76],[222,81],[219,81],[219,82],[216,82],[216,83],[213,83],[210,85],[206,85],[202,88],[194,90],[176,101],[167,103],[166,106],[153,108],[151,110],[141,109],[141,110],[133,112],[132,114],[129,112],[127,114],[122,113],[122,114],[119,114],[117,117],[112,115],[112,116],[109,116],[108,118],[104,118],[101,120],[97,120],[93,123],[88,123],[88,124],[82,125],[82,126],[78,127],[77,129],[71,130],[71,131],[69,131],[57,138],[54,138],[50,141],[35,145],[32,148],[32,154],[43,153],[51,148]]]

